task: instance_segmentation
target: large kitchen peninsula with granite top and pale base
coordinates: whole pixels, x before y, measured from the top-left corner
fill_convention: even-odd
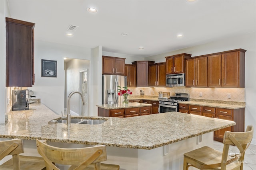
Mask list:
[[[31,104],[30,110],[10,111],[8,123],[0,124],[1,138],[24,139],[25,153],[36,153],[35,139],[56,146],[74,144],[106,145],[106,163],[131,170],[182,169],[183,154],[202,145],[213,145],[213,131],[235,125],[233,121],[168,112],[128,118],[105,119],[100,125],[56,123],[60,118],[43,104]],[[202,136],[201,136],[202,135]],[[26,150],[26,143],[29,149]],[[34,145],[33,145],[34,144]]]

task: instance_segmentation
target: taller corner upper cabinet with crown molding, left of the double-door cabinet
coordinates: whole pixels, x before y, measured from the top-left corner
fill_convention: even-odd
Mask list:
[[[132,64],[137,66],[137,87],[148,86],[148,66],[154,64],[154,61],[134,61]]]

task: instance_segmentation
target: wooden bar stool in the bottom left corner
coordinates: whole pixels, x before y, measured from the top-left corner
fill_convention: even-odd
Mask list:
[[[0,160],[7,155],[12,155],[12,159],[0,165],[0,170],[42,170],[45,168],[43,158],[19,155],[23,152],[22,139],[0,141]]]

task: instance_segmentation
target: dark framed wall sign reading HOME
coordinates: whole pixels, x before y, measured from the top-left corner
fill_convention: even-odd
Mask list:
[[[57,61],[41,60],[41,77],[57,77]]]

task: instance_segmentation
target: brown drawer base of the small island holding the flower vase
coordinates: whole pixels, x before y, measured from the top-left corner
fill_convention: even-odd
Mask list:
[[[98,107],[98,116],[103,117],[134,117],[151,114],[151,106],[130,107],[126,109],[104,109]]]

